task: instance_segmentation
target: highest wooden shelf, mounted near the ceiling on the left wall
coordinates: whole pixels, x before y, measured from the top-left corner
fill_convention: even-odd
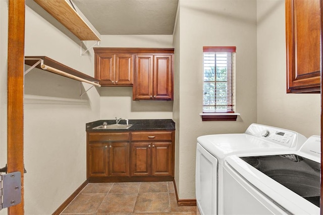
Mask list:
[[[100,38],[86,24],[80,15],[66,0],[34,0],[39,6],[57,19],[80,40],[96,40]]]

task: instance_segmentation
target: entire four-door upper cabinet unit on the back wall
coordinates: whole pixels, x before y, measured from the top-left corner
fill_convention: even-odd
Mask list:
[[[174,48],[93,48],[101,86],[133,86],[133,100],[173,100]]]

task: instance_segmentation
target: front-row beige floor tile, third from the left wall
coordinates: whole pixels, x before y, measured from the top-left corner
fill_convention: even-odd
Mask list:
[[[168,193],[138,193],[134,212],[170,212]]]

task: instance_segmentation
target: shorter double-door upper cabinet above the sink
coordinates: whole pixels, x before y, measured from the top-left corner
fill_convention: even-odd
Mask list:
[[[133,84],[131,53],[95,52],[94,67],[95,77],[101,86],[132,86]]]

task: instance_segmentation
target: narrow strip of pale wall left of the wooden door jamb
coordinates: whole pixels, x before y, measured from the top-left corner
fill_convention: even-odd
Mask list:
[[[8,0],[0,0],[0,168],[7,164]],[[0,210],[7,214],[7,209]]]

